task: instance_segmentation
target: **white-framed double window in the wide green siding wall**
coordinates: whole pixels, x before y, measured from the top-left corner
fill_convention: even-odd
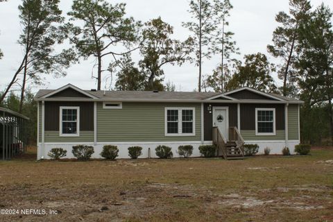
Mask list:
[[[195,135],[194,108],[166,108],[165,135]]]

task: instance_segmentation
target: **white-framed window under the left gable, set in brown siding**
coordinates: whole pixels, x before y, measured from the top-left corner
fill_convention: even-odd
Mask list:
[[[60,107],[60,136],[78,137],[80,131],[80,108]]]

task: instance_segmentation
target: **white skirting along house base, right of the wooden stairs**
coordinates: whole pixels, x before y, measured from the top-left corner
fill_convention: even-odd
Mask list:
[[[286,146],[286,142],[284,140],[246,140],[246,144],[258,144],[259,146],[259,152],[257,154],[263,154],[264,149],[266,147],[271,148],[270,154],[282,154],[282,149],[284,146]],[[289,140],[287,143],[287,147],[289,148],[289,151],[291,154],[295,154],[295,145],[300,144],[300,141],[298,140]]]

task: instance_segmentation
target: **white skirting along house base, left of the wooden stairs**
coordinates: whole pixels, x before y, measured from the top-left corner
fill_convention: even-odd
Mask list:
[[[130,146],[141,146],[142,147],[142,155],[139,158],[148,158],[148,148],[151,148],[151,158],[156,158],[155,155],[155,148],[159,145],[165,145],[170,146],[172,148],[173,157],[179,157],[178,155],[178,146],[181,145],[192,145],[194,150],[191,157],[200,157],[200,152],[198,147],[201,144],[200,141],[198,142],[110,142],[110,143],[97,143],[94,145],[94,143],[45,143],[44,145],[44,151],[42,151],[42,144],[40,143],[37,150],[37,160],[40,159],[49,159],[49,156],[47,153],[51,150],[51,148],[63,148],[67,150],[67,156],[64,158],[74,158],[74,155],[71,153],[72,146],[75,146],[77,144],[85,144],[89,146],[94,146],[94,154],[92,155],[92,158],[101,158],[101,155],[99,155],[103,149],[104,145],[115,145],[119,148],[119,153],[117,158],[126,159],[130,158],[128,156],[128,147]],[[204,142],[204,144],[212,144],[212,142]]]

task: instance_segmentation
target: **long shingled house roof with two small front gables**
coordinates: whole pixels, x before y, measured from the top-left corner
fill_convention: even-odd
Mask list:
[[[74,89],[83,96],[61,97],[57,95],[65,89]],[[233,98],[234,92],[241,90],[249,90],[268,99],[237,99]],[[64,93],[65,94],[65,93]],[[72,93],[74,94],[74,93]],[[62,94],[63,95],[63,94]],[[74,94],[75,95],[75,94]],[[36,101],[137,101],[137,102],[209,102],[209,103],[302,103],[297,99],[289,99],[287,97],[275,94],[266,94],[256,89],[243,87],[230,92],[153,92],[153,91],[91,91],[83,90],[74,85],[68,84],[59,89],[40,89],[35,95]]]

